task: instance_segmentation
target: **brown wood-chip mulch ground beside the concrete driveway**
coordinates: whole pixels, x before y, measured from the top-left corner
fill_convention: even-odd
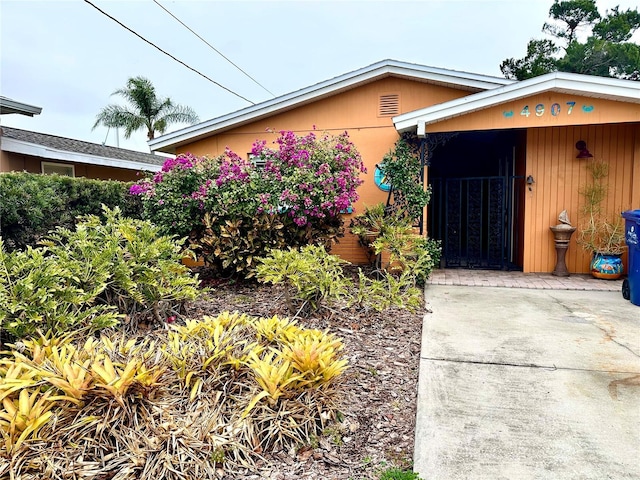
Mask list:
[[[212,286],[187,314],[225,310],[290,316],[277,287],[233,283]],[[395,308],[381,313],[335,309],[298,318],[302,326],[328,329],[345,344],[350,368],[340,399],[344,420],[312,446],[269,453],[258,471],[225,479],[377,479],[388,466],[410,468],[423,315]]]

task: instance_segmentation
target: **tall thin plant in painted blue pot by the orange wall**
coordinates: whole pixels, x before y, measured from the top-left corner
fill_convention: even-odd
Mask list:
[[[626,248],[624,222],[606,211],[604,201],[609,185],[609,164],[594,160],[587,165],[591,182],[580,189],[583,204],[577,242],[593,255],[591,274],[596,278],[618,279],[624,267],[620,256]]]

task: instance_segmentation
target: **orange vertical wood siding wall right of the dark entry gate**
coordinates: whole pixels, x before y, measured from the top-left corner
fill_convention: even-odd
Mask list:
[[[579,189],[589,181],[589,159],[577,159],[575,144],[587,142],[594,159],[609,163],[607,211],[640,209],[640,123],[531,128],[527,132],[527,172],[535,183],[525,199],[525,272],[551,272],[556,254],[549,227],[566,209],[579,225]],[[570,272],[589,272],[591,255],[572,237],[566,262]],[[626,262],[626,255],[623,260]]]

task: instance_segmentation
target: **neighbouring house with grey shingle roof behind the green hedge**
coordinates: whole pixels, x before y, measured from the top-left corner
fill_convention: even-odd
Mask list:
[[[0,128],[0,172],[131,181],[138,179],[140,171],[160,170],[165,158],[19,128]]]

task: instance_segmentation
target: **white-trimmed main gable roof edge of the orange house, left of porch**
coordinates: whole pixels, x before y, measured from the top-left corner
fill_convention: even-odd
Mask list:
[[[407,78],[419,82],[454,87],[469,92],[479,92],[513,83],[513,80],[488,75],[458,72],[396,60],[383,60],[301,90],[162,135],[150,140],[148,143],[153,151],[160,150],[173,153],[179,145],[191,143],[200,138],[209,137],[276,113],[292,110],[321,98],[336,95],[385,77]]]

